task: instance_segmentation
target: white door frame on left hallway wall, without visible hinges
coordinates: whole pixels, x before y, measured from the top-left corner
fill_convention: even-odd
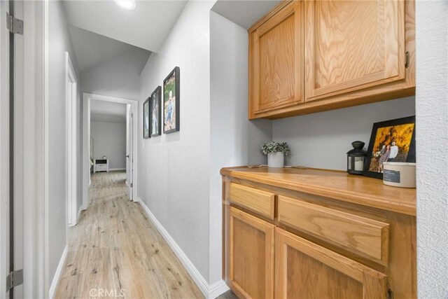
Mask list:
[[[65,53],[65,92],[66,92],[66,216],[68,226],[78,223],[78,211],[76,211],[76,198],[78,195],[77,169],[77,117],[76,102],[78,100],[78,78],[71,63],[70,55]],[[80,207],[82,208],[82,207]],[[79,210],[80,211],[80,210]]]

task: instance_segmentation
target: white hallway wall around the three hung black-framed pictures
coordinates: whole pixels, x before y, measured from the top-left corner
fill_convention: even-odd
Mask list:
[[[159,53],[141,72],[140,105],[174,67],[180,72],[181,130],[143,139],[139,112],[139,194],[209,281],[209,1],[189,1]],[[143,111],[143,109],[141,109]],[[217,260],[216,263],[221,263]]]

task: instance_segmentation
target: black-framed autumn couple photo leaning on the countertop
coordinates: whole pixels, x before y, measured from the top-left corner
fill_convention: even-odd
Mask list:
[[[395,136],[394,134],[397,127],[399,127],[400,130],[405,130],[400,136]],[[380,129],[381,132],[379,132]],[[412,133],[409,132],[409,130],[412,130]],[[379,137],[384,137],[384,140],[377,140],[377,134],[379,133],[381,134]],[[394,120],[386,120],[379,123],[374,123],[372,127],[372,134],[370,134],[369,147],[367,148],[367,157],[365,158],[364,162],[363,176],[369,176],[374,179],[383,179],[383,173],[379,168],[381,167],[381,160],[384,160],[384,158],[387,158],[388,156],[384,156],[382,147],[386,146],[387,148],[387,146],[396,146],[396,143],[393,144],[393,142],[403,139],[403,144],[405,144],[405,146],[409,146],[407,154],[405,151],[402,151],[400,149],[400,146],[397,146],[398,152],[395,151],[395,153],[398,153],[398,155],[396,155],[396,157],[398,158],[394,157],[392,159],[394,159],[395,162],[415,162],[415,116],[408,116],[405,118],[397,118]],[[408,140],[409,144],[407,143]],[[377,144],[375,144],[375,142]],[[381,150],[378,151],[380,146]],[[390,160],[391,159],[388,159],[388,161]],[[376,167],[378,167],[378,171],[372,171],[372,169],[376,169]]]

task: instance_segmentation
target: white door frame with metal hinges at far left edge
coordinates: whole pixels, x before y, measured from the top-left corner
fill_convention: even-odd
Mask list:
[[[18,212],[22,213],[23,229],[23,297],[25,298],[45,298],[48,297],[48,257],[45,253],[48,246],[45,240],[48,235],[45,233],[45,202],[48,198],[48,176],[45,176],[45,151],[48,151],[48,134],[45,133],[45,118],[48,118],[48,110],[45,105],[48,99],[45,97],[45,82],[48,82],[48,72],[45,73],[45,64],[48,64],[48,0],[22,1],[20,12],[16,11],[15,17],[24,20],[22,36],[22,62],[20,68],[23,71],[23,80],[20,92],[23,97],[20,106],[21,117],[18,119],[20,127],[23,128],[20,142],[23,151],[22,167],[26,165],[23,172],[20,192],[26,198],[27,204],[23,204]],[[9,79],[6,65],[9,64],[8,43],[3,41],[5,35],[8,38],[9,32],[6,30],[5,8],[8,1],[1,1],[1,30],[0,30],[0,96],[6,99],[9,93]],[[6,55],[3,55],[6,54]],[[48,95],[48,94],[46,94]],[[9,193],[9,101],[0,101],[0,139],[3,144],[0,147],[0,292],[6,294],[6,274],[9,270],[6,253],[8,252],[8,198]],[[18,270],[19,265],[15,267]],[[0,296],[1,296],[0,295]]]

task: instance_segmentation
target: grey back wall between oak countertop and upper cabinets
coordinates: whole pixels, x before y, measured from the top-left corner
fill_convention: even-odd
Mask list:
[[[286,165],[346,170],[351,142],[369,145],[373,123],[415,115],[415,97],[272,121],[272,138],[288,142]]]

